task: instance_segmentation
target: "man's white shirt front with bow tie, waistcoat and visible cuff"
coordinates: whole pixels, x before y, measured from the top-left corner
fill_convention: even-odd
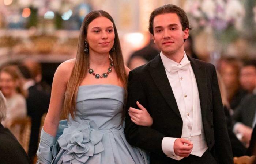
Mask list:
[[[190,61],[185,51],[180,63],[167,58],[162,52],[160,57],[183,121],[181,138],[190,140],[193,143],[191,154],[201,157],[208,147],[204,136],[196,78]],[[164,137],[162,149],[167,157],[181,160],[183,157],[174,153],[173,146],[176,139]]]

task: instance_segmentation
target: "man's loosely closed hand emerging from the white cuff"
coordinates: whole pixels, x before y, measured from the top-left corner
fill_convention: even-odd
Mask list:
[[[193,149],[193,143],[184,138],[178,138],[174,142],[174,153],[180,157],[188,157]]]

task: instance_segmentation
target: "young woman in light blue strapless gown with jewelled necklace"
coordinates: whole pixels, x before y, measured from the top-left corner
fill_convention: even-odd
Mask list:
[[[90,12],[76,59],[62,63],[54,75],[38,163],[147,163],[146,153],[125,140],[122,126],[128,73],[113,18],[102,10]],[[62,109],[68,127],[56,137],[56,150]],[[152,118],[143,112],[138,125],[151,126]]]

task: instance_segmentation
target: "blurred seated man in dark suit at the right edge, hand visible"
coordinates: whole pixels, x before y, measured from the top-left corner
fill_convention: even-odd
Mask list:
[[[249,92],[234,112],[234,133],[241,135],[241,141],[248,148],[247,154],[251,154],[256,143],[256,131],[252,134],[256,124],[256,65],[255,60],[245,62],[240,73],[241,85]],[[252,138],[251,138],[252,137]],[[251,140],[251,141],[250,141]],[[250,142],[250,144],[249,144]]]

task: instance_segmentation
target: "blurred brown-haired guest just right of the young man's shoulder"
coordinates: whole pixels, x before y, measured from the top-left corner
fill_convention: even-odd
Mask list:
[[[242,98],[247,94],[239,83],[241,62],[235,58],[223,58],[219,61],[218,71],[223,78],[227,90],[227,100],[231,109],[236,109]]]

